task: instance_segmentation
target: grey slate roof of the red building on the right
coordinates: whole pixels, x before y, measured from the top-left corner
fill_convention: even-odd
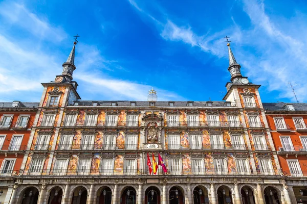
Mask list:
[[[289,111],[287,105],[293,105],[294,111],[307,111],[307,103],[262,103],[266,111]]]

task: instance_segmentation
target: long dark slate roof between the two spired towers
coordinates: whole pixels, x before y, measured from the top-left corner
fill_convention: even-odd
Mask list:
[[[116,103],[116,106],[131,106],[131,103],[136,103],[138,107],[148,107],[149,103],[155,103],[155,107],[165,107],[173,103],[172,107],[187,107],[188,103],[192,103],[194,107],[208,107],[208,104],[212,104],[212,107],[229,107],[230,102],[225,101],[129,101],[129,100],[78,100],[70,103],[74,106],[78,103],[78,106],[93,106],[93,103],[97,103],[97,106],[112,106],[112,103]]]

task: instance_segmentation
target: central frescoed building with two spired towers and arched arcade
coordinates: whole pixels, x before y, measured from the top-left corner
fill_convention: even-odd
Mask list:
[[[148,101],[80,100],[75,45],[42,83],[4,203],[292,203],[260,86],[243,77],[230,44],[225,101],[157,101],[154,90]],[[167,172],[149,173],[153,156]]]

